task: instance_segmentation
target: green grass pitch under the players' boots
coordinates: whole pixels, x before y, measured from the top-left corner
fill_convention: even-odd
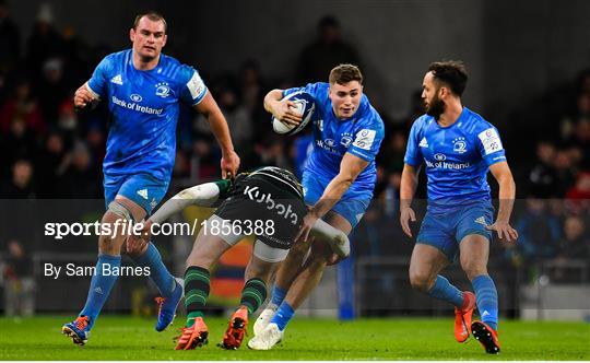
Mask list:
[[[102,316],[85,347],[60,333],[67,317],[0,318],[0,360],[589,360],[590,325],[502,321],[499,355],[473,339],[459,344],[450,319],[295,319],[271,351],[216,347],[226,320],[210,318],[209,346],[174,351],[177,328],[158,333],[150,319]]]

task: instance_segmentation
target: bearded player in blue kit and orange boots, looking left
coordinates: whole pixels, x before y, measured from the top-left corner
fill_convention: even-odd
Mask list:
[[[515,182],[498,131],[482,116],[464,107],[461,95],[468,74],[462,62],[432,63],[423,81],[426,114],[412,125],[400,190],[400,223],[412,237],[416,220],[412,199],[421,166],[426,167],[428,207],[410,261],[414,289],[455,306],[455,338],[464,342],[473,333],[487,353],[498,353],[498,298],[487,273],[492,232],[514,242],[510,224]],[[493,221],[487,172],[499,184],[499,210]],[[457,255],[475,294],[461,292],[440,271]],[[471,316],[477,307],[482,321]]]

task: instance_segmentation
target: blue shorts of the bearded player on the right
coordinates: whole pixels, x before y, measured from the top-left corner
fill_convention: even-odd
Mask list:
[[[485,229],[493,223],[494,208],[489,202],[453,208],[452,211],[427,211],[416,243],[440,249],[450,261],[459,253],[459,243],[470,234],[481,234],[492,241],[492,231]]]

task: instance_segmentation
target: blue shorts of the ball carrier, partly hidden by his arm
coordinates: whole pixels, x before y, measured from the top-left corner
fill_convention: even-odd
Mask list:
[[[309,173],[304,173],[302,186],[304,189],[304,201],[308,206],[314,206],[323,195],[327,185],[322,185],[317,177]],[[354,229],[363,219],[365,211],[370,203],[370,196],[358,196],[351,194],[350,197],[344,195],[331,211],[344,216]]]

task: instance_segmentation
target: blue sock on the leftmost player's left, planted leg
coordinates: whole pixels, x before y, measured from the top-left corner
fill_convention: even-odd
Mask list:
[[[98,255],[96,271],[92,277],[88,297],[86,297],[86,305],[80,313],[80,316],[85,315],[90,318],[88,329],[92,328],[103,305],[105,305],[110,290],[117,281],[120,267],[121,256]],[[117,270],[116,273],[115,270]]]

